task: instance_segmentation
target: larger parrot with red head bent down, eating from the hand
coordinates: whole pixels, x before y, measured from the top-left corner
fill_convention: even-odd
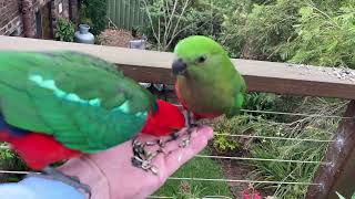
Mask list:
[[[141,132],[164,136],[184,126],[176,106],[101,59],[69,51],[0,52],[0,142],[54,179],[90,192],[48,166],[110,149]]]

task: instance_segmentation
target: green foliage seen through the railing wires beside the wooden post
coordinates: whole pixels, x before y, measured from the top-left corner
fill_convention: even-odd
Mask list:
[[[262,104],[265,97],[261,95],[252,102]],[[266,97],[267,98],[267,97]],[[276,100],[271,103],[271,106],[262,108],[271,108],[272,111],[282,107],[286,104],[286,96],[276,96]],[[288,98],[290,100],[290,98]],[[306,97],[303,101],[294,98],[288,107],[284,107],[286,112],[320,114],[320,115],[341,115],[346,107],[347,102],[338,100],[327,100],[321,97]],[[267,101],[266,101],[267,102]],[[266,103],[267,104],[267,103]],[[254,108],[254,107],[253,107]],[[336,132],[339,118],[323,118],[323,117],[305,117],[305,116],[281,116],[272,117],[268,114],[242,114],[231,119],[221,118],[214,124],[215,133],[222,134],[239,134],[254,135],[265,137],[284,137],[284,138],[304,138],[304,139],[323,139],[329,140]],[[217,137],[215,137],[217,138]],[[221,139],[221,138],[220,138]],[[243,148],[244,156],[262,159],[295,159],[321,161],[326,151],[328,143],[314,143],[301,140],[285,139],[267,139],[267,138],[239,138],[224,136],[223,140],[236,142],[237,148],[232,153]],[[215,142],[217,142],[215,144]],[[214,146],[221,149],[229,148],[230,143],[220,145],[220,140],[214,139]],[[219,149],[217,148],[217,149]],[[245,163],[245,161],[243,161]],[[317,164],[303,163],[278,163],[278,161],[246,161],[253,168],[248,178],[253,180],[270,180],[270,181],[298,181],[307,182],[313,179],[313,175],[318,168]],[[307,186],[303,185],[256,185],[256,188],[263,188],[271,191],[276,198],[304,198]]]

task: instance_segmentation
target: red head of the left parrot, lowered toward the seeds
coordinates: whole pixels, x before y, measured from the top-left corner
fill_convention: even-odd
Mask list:
[[[178,106],[165,101],[158,101],[158,112],[148,116],[143,134],[153,136],[165,136],[185,127],[185,117]]]

